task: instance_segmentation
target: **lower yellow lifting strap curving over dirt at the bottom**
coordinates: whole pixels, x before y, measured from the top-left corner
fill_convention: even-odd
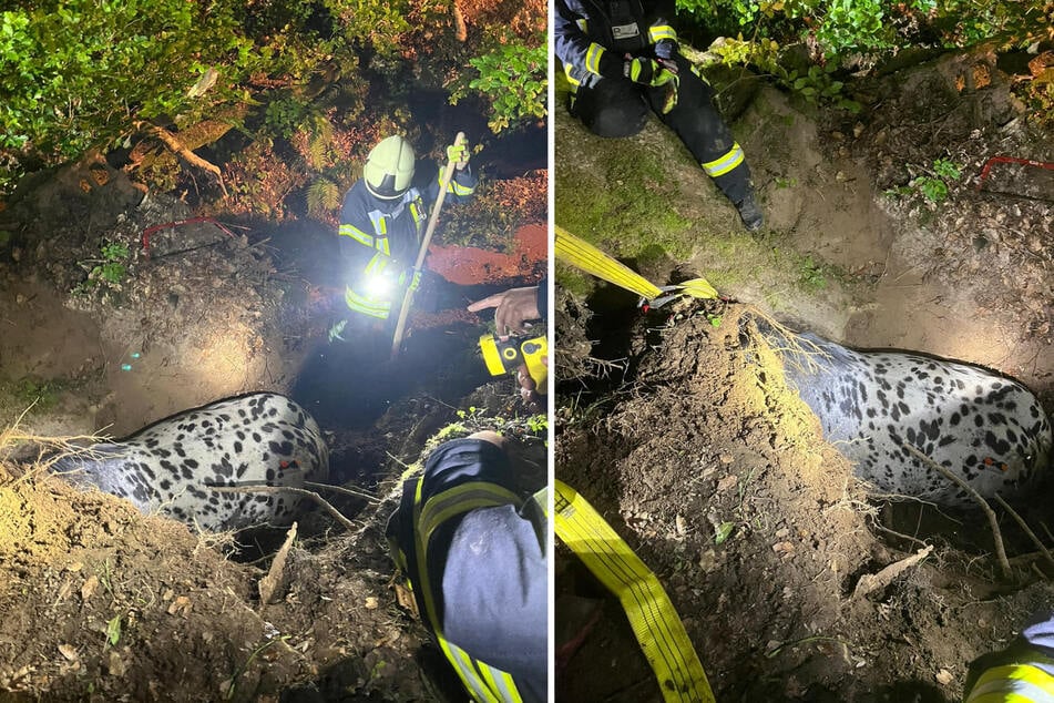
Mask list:
[[[655,574],[582,496],[555,482],[556,536],[618,597],[667,702],[714,703],[688,633]]]

